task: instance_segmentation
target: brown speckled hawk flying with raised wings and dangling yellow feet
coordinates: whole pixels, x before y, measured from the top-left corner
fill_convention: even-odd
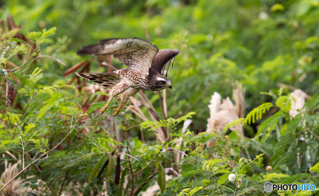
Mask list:
[[[139,38],[113,38],[100,40],[98,44],[82,47],[78,55],[112,55],[124,63],[127,69],[119,69],[108,73],[78,73],[82,78],[109,87],[109,99],[99,115],[108,107],[111,99],[122,93],[119,107],[113,109],[112,116],[120,112],[123,100],[136,94],[139,90],[159,91],[164,88],[172,89],[171,81],[164,77],[165,67],[172,67],[174,58],[180,50],[162,49],[148,41]],[[166,72],[167,76],[167,72]]]

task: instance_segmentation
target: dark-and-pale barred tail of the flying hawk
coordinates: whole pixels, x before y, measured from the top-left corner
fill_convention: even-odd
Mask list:
[[[102,87],[113,86],[117,83],[120,78],[119,75],[115,72],[108,73],[83,73],[83,72],[75,72],[78,76],[82,78],[86,78],[88,80],[93,81],[96,84],[102,84]]]

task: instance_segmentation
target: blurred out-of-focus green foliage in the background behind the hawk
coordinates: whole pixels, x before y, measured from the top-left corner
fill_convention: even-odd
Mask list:
[[[318,0],[8,0],[2,20],[11,15],[22,33],[56,26],[56,35],[41,46],[42,55],[61,64],[38,61],[43,84],[66,84],[63,73],[88,57],[81,46],[113,37],[146,39],[159,49],[180,49],[168,73],[168,117],[197,113],[194,130],[205,130],[207,105],[216,91],[232,96],[232,83],[246,89],[246,110],[270,101],[259,92],[283,83],[309,95],[318,92]],[[115,67],[125,68],[114,62]],[[96,65],[97,67],[97,65]],[[91,67],[93,72],[96,67]],[[107,71],[107,68],[102,71]],[[146,94],[160,113],[158,95]],[[262,101],[260,101],[262,100]],[[247,112],[246,112],[247,113]]]

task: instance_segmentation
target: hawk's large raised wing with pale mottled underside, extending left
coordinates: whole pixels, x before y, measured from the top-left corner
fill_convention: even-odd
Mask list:
[[[78,55],[113,55],[131,69],[148,73],[158,48],[139,38],[100,40],[99,44],[82,47]]]

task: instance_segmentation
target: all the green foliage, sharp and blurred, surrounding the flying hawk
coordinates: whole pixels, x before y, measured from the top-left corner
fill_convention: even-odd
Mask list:
[[[159,193],[161,196],[261,195],[266,181],[319,186],[315,137],[319,135],[316,2],[12,0],[3,4],[0,173],[4,172],[5,159],[16,162],[6,151],[24,158],[18,166],[22,170],[30,159],[34,161],[56,147],[19,176],[25,186],[35,191],[28,194],[57,195],[62,188],[64,195],[86,196],[91,195],[91,190],[97,194],[107,190],[108,195],[121,196],[138,191],[139,195],[154,180],[161,181],[160,188],[165,189]],[[22,28],[15,28],[8,14]],[[169,118],[162,119],[158,94],[147,91],[147,107],[152,104],[155,108],[155,119],[150,117],[147,104],[139,106],[143,96],[135,96],[138,103],[134,109],[152,121],[141,120],[129,110],[121,110],[114,118],[109,117],[109,111],[98,116],[94,111],[105,105],[108,94],[91,93],[82,79],[74,78],[73,73],[63,76],[63,72],[82,60],[84,66],[76,71],[109,72],[111,66],[104,67],[100,60],[117,69],[126,68],[116,60],[78,57],[75,51],[99,39],[145,39],[141,21],[159,49],[181,50],[168,73],[173,86],[166,91]],[[29,30],[35,32],[27,34]],[[26,39],[22,33],[27,34]],[[51,58],[35,59],[37,56]],[[59,59],[66,66],[52,59]],[[6,71],[15,69],[14,65],[20,68]],[[231,84],[236,80],[246,89],[246,117],[226,125],[223,134],[201,132],[209,118],[211,94],[219,92],[222,97],[230,97]],[[277,90],[280,83],[310,95],[295,117],[289,111],[296,100],[287,88]],[[112,102],[115,103],[116,100]],[[124,107],[130,104],[128,101]],[[182,132],[182,122],[191,117],[193,124]],[[236,124],[249,124],[256,131],[255,138],[243,139],[239,132],[229,132]],[[156,141],[155,129],[163,129],[167,140]],[[208,147],[207,141],[213,141],[214,146]],[[108,168],[95,179],[103,161],[100,157],[105,154],[109,155]],[[112,157],[119,155],[119,185],[124,185],[128,175],[125,189],[113,183]],[[256,155],[251,161],[250,157]],[[174,170],[168,175],[178,175],[167,182],[155,175],[161,173],[165,177],[163,168],[158,170],[159,162],[163,168]],[[271,171],[266,170],[267,165],[272,166]],[[229,181],[229,174],[234,174],[236,181]]]

